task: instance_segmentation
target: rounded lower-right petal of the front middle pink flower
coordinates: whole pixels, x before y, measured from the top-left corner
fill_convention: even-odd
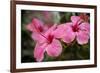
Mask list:
[[[53,39],[52,43],[46,47],[47,54],[51,57],[57,57],[62,52],[62,45],[60,41]]]

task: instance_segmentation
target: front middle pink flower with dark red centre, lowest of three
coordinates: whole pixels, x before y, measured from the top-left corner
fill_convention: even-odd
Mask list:
[[[46,52],[51,57],[57,57],[62,52],[62,45],[58,39],[55,38],[53,31],[56,25],[49,28],[44,34],[32,34],[33,39],[41,40],[37,42],[34,49],[34,58],[36,61],[42,61],[44,53]],[[37,36],[39,37],[37,37]]]

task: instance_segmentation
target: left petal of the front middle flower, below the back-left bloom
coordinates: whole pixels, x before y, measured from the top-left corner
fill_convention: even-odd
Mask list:
[[[44,35],[42,35],[42,33],[32,33],[32,39],[38,43],[44,43],[46,42],[46,37]]]

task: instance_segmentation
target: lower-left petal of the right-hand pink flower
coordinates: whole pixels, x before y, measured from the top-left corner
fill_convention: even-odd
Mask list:
[[[71,43],[75,39],[75,32],[73,32],[72,27],[67,27],[65,31],[66,34],[62,37],[65,43]]]

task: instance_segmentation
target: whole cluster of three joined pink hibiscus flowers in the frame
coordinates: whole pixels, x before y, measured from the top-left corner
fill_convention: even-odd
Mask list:
[[[74,40],[78,44],[87,44],[90,34],[90,24],[79,16],[71,16],[71,22],[54,24],[51,27],[34,18],[26,28],[32,32],[32,39],[36,42],[34,58],[36,61],[44,59],[44,53],[51,57],[58,57],[62,52],[60,40],[66,44]]]

